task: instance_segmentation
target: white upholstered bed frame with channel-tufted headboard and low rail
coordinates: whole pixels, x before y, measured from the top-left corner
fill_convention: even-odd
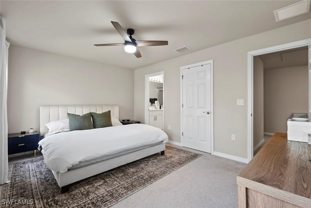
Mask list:
[[[41,106],[40,107],[40,135],[48,132],[48,128],[44,125],[51,121],[68,118],[67,113],[82,115],[84,113],[95,112],[103,113],[111,111],[111,115],[119,119],[119,106],[117,105],[75,105],[75,106]],[[60,173],[52,170],[52,173],[61,188],[61,193],[69,191],[69,185],[99,174],[101,172],[117,168],[127,163],[147,157],[149,155],[161,152],[164,154],[165,143],[155,144],[154,146],[142,147],[133,151],[126,151],[123,154],[119,153],[112,155],[111,158],[86,165],[83,167],[68,170]]]

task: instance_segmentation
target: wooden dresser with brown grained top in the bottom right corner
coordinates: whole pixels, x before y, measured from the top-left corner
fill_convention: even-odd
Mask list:
[[[311,208],[311,145],[275,133],[237,184],[239,208]]]

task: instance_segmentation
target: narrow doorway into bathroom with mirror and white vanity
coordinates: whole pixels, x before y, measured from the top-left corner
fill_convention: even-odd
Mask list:
[[[164,71],[145,75],[145,124],[164,130]]]

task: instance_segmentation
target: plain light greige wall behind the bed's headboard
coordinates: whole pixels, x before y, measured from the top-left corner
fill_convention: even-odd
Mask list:
[[[134,71],[11,45],[8,132],[39,130],[39,106],[116,104],[133,119]]]

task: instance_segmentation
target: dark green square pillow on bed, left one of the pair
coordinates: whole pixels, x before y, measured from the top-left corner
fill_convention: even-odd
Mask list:
[[[76,115],[67,113],[69,118],[69,131],[93,129],[91,113]]]

